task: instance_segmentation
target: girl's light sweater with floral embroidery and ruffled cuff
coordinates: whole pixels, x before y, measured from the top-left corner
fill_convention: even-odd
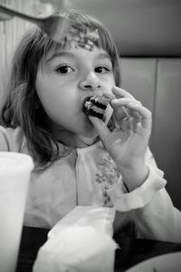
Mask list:
[[[0,127],[0,151],[29,154],[23,132]],[[145,160],[148,179],[128,192],[101,142],[72,150],[50,169],[32,174],[24,225],[52,228],[76,206],[114,207],[117,231],[131,219],[139,238],[181,242],[181,213],[164,188],[167,181],[149,150]]]

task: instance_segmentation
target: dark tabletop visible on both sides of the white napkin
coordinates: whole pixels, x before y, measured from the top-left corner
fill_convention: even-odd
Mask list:
[[[38,249],[47,240],[49,229],[24,227],[16,272],[32,272]],[[150,257],[181,251],[181,244],[138,238],[115,238],[119,244],[115,272],[122,272]],[[50,271],[51,272],[51,271]]]

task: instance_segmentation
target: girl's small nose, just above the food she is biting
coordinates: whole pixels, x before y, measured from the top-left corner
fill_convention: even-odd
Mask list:
[[[100,79],[99,77],[93,73],[90,72],[86,78],[81,81],[80,83],[80,88],[81,90],[85,91],[95,91],[95,90],[100,90]]]

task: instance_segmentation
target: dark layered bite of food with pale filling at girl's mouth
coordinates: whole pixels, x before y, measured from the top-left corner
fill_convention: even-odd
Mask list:
[[[97,117],[100,120],[105,121],[105,112],[110,101],[110,97],[106,95],[88,96],[83,102],[82,111],[87,116]]]

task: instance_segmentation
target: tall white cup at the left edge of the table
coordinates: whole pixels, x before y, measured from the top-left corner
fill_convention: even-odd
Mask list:
[[[16,268],[32,170],[30,156],[0,152],[0,272]]]

